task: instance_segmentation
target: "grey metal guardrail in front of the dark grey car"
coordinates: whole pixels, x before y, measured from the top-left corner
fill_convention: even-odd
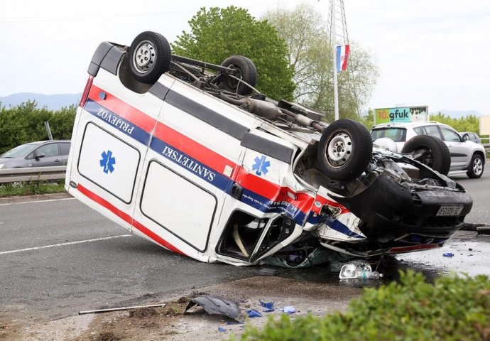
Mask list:
[[[65,178],[65,173],[66,166],[0,169],[0,183],[61,180]]]

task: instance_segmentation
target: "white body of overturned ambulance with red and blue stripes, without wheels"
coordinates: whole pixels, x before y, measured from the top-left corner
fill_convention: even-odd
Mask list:
[[[121,227],[200,261],[236,265],[305,234],[356,256],[440,247],[450,237],[349,251],[368,240],[359,217],[325,179],[305,180],[319,172],[298,175],[322,134],[283,129],[171,72],[147,85],[131,80],[128,49],[102,43],[94,54],[66,177],[70,194]]]

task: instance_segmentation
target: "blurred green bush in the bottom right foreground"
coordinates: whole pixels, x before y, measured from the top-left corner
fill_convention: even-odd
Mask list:
[[[271,316],[262,330],[246,325],[241,340],[490,340],[490,282],[452,275],[430,284],[408,271],[401,283],[366,288],[346,313]]]

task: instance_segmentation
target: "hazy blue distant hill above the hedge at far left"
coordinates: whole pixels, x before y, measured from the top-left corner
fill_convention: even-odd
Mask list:
[[[21,92],[0,97],[1,105],[4,107],[17,107],[18,104],[28,101],[36,101],[38,108],[46,107],[49,110],[58,110],[62,107],[70,107],[72,104],[80,102],[82,94],[34,94],[31,92]]]

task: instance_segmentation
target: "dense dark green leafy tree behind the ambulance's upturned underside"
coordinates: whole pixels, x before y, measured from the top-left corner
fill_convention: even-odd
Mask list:
[[[267,21],[256,21],[246,9],[202,8],[172,43],[173,53],[221,64],[230,55],[244,55],[257,68],[256,88],[269,97],[293,99],[293,68],[283,38]]]

